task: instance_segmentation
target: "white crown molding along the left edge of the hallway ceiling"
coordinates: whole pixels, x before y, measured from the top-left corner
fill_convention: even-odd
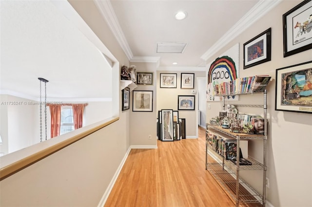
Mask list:
[[[100,14],[105,19],[114,36],[117,38],[122,50],[125,52],[128,59],[131,60],[133,58],[132,51],[122,32],[111,2],[109,0],[94,0],[93,2],[97,6]]]

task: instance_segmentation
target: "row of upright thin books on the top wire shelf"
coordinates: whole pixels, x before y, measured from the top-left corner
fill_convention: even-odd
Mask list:
[[[260,92],[267,87],[270,80],[271,76],[269,75],[241,77],[229,82],[215,84],[214,90],[216,95]]]

